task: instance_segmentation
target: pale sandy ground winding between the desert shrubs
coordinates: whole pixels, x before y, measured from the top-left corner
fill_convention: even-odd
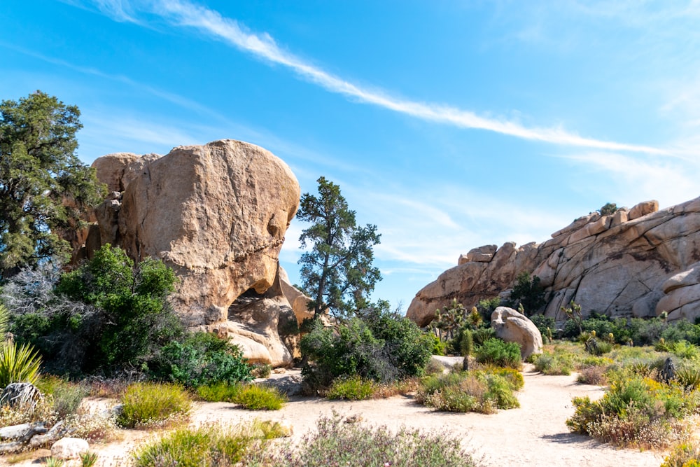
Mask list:
[[[293,398],[276,412],[250,412],[228,403],[197,403],[193,424],[204,422],[239,423],[253,418],[285,421],[294,428],[293,437],[301,438],[314,429],[316,419],[335,410],[345,416],[356,415],[363,422],[389,428],[407,426],[426,431],[442,431],[463,439],[463,446],[483,457],[485,466],[654,466],[663,460],[661,453],[636,449],[615,449],[582,435],[569,433],[564,421],[573,414],[573,396],[598,398],[603,389],[577,384],[575,375],[544,376],[524,371],[525,387],[519,393],[519,409],[497,414],[453,414],[434,412],[413,402],[409,396],[360,402]],[[128,459],[137,442],[152,436],[143,431],[124,431],[120,440],[94,445],[99,465],[117,466]],[[48,451],[37,452],[15,466],[36,466]],[[6,465],[6,459],[0,458]]]

